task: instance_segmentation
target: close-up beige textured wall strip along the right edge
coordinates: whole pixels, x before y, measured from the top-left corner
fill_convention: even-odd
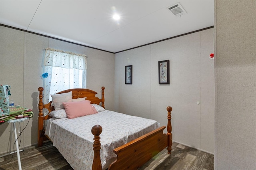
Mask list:
[[[215,0],[215,148],[219,170],[256,168],[256,0]]]

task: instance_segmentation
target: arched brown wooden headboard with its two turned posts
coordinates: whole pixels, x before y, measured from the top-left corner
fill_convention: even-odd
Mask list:
[[[72,91],[72,98],[73,99],[86,97],[86,100],[91,101],[92,104],[95,103],[95,104],[99,105],[100,103],[102,103],[101,106],[103,108],[105,108],[105,105],[104,105],[104,101],[105,101],[105,99],[104,99],[104,89],[105,89],[105,87],[101,87],[101,89],[102,89],[102,91],[101,91],[102,98],[101,99],[99,99],[98,97],[95,96],[96,94],[98,94],[97,92],[89,90],[89,89],[68,89],[68,90],[60,91],[56,94],[68,93],[68,92]],[[39,91],[38,146],[42,146],[43,141],[45,140],[45,137],[44,137],[44,120],[47,120],[47,119],[51,118],[49,113],[54,110],[54,107],[52,106],[52,101],[50,101],[47,104],[43,103],[44,88],[39,87],[38,91]],[[48,115],[44,116],[43,109],[47,109],[49,111]]]

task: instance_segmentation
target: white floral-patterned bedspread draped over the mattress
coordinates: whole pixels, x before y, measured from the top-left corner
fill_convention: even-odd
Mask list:
[[[102,167],[111,158],[116,157],[113,150],[135,138],[138,138],[159,127],[154,120],[134,117],[113,111],[102,111],[94,115],[87,115],[75,119],[51,118],[46,127],[53,146],[75,170],[91,170],[94,151],[94,125],[102,126],[100,134],[100,158]]]

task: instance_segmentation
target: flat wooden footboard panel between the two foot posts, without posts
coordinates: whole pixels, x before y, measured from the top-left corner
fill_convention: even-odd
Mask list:
[[[136,170],[148,162],[168,144],[168,135],[163,134],[166,127],[160,127],[140,138],[114,149],[117,159],[109,170]]]

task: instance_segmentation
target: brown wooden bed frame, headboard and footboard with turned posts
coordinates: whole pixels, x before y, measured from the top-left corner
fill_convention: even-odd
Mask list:
[[[89,89],[68,89],[61,91],[60,93],[68,93],[72,91],[72,98],[82,98],[86,97],[86,100],[90,100],[91,103],[100,104],[104,106],[104,89],[102,87],[102,99],[95,97],[97,94],[95,91]],[[54,110],[54,107],[51,106],[52,101],[47,104],[43,103],[43,87],[39,87],[39,103],[38,103],[38,147],[43,145],[44,140],[49,140],[49,138],[44,135],[44,120],[50,119],[50,115],[44,116],[43,109],[47,109],[49,113]],[[153,158],[157,153],[167,147],[168,154],[171,154],[172,150],[172,125],[171,125],[171,111],[172,107],[167,107],[168,111],[168,123],[167,123],[167,133],[163,133],[165,126],[160,127],[152,132],[149,132],[139,138],[136,138],[127,144],[124,144],[118,148],[114,149],[115,154],[117,155],[116,160],[110,164],[108,170],[117,170],[117,169],[138,169],[148,160]],[[48,113],[48,114],[49,114]],[[100,160],[100,134],[102,132],[102,127],[100,125],[95,125],[92,127],[92,134],[94,135],[94,160],[92,163],[92,170],[101,170],[101,160]]]

